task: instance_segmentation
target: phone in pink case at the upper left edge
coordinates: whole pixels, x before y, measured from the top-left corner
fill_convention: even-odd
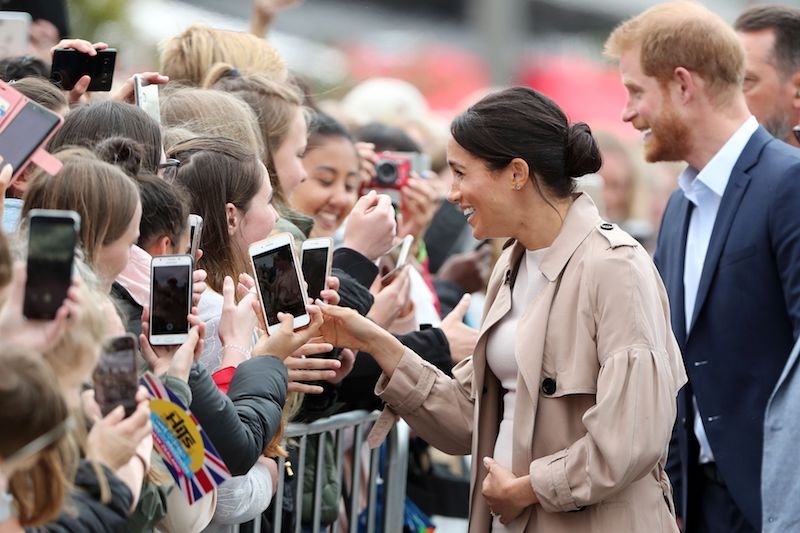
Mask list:
[[[0,156],[3,165],[14,169],[13,182],[48,139],[61,126],[63,119],[36,102],[20,95],[9,85],[0,82]],[[15,112],[16,106],[20,106]]]

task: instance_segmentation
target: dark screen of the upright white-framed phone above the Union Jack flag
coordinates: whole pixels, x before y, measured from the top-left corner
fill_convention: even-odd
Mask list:
[[[177,335],[189,332],[190,293],[189,265],[153,267],[153,308],[150,335]]]

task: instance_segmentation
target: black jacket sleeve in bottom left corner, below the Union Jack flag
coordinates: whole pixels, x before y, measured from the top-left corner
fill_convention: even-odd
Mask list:
[[[100,468],[108,480],[111,493],[108,503],[100,502],[100,482],[92,464],[86,459],[81,459],[75,476],[75,488],[70,491],[71,501],[67,504],[68,510],[63,511],[55,522],[38,528],[27,528],[25,531],[37,533],[124,531],[133,495],[128,486],[111,470],[102,465]]]

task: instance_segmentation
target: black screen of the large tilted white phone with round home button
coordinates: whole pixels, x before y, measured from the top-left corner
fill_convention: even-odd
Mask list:
[[[290,245],[253,256],[261,301],[267,315],[267,325],[278,323],[278,313],[300,316],[306,313],[303,291],[297,279],[294,253]]]

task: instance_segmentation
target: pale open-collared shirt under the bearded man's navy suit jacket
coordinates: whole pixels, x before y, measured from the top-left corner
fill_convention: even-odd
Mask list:
[[[683,190],[684,196],[694,205],[689,219],[689,231],[686,235],[683,270],[687,338],[692,327],[697,288],[700,285],[700,276],[703,272],[703,264],[708,252],[711,232],[714,229],[714,221],[717,218],[717,211],[719,211],[719,204],[725,188],[728,186],[733,167],[756,129],[758,129],[758,122],[751,115],[702,170],[698,171],[690,166],[678,177],[678,185]],[[697,400],[692,398],[692,401],[695,412],[694,433],[700,443],[700,464],[710,463],[714,460],[714,454],[708,443],[702,416],[697,408]]]

